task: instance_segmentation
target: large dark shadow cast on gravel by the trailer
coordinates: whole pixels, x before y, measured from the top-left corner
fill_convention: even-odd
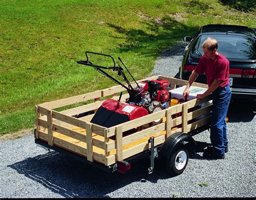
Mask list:
[[[158,180],[170,178],[159,162],[155,162],[152,174],[147,174],[150,160],[140,160],[123,175],[106,173],[55,151],[26,158],[8,167],[65,198],[109,197],[109,193],[132,182],[157,183]]]

